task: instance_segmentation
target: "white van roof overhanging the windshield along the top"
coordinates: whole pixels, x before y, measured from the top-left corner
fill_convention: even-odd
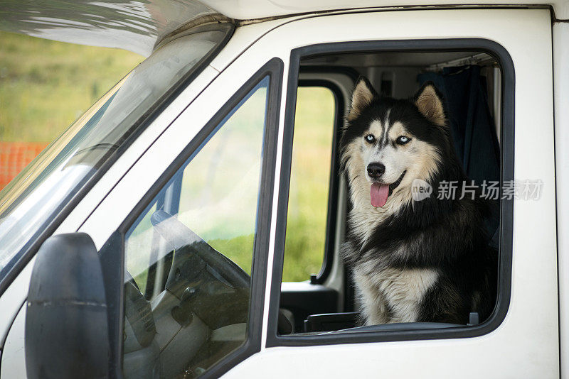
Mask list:
[[[122,48],[148,56],[157,43],[188,23],[229,19],[262,21],[321,11],[410,6],[552,6],[558,19],[569,19],[569,0],[515,0],[504,4],[507,0],[477,0],[474,4],[467,0],[23,0],[0,6],[0,30]]]

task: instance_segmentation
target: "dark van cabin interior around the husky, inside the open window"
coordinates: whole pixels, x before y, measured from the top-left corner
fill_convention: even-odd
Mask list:
[[[427,81],[432,81],[447,100],[452,134],[459,159],[470,179],[499,180],[501,133],[501,68],[494,57],[477,51],[345,53],[309,57],[300,61],[299,86],[330,82],[336,98],[342,97],[336,115],[334,143],[349,109],[351,91],[360,76],[367,77],[376,91],[396,99],[408,99]],[[464,96],[463,96],[464,95]],[[449,104],[451,103],[451,104]],[[452,112],[454,111],[454,114]],[[339,117],[341,116],[341,117]],[[472,147],[472,150],[470,148]],[[358,305],[354,299],[349,268],[339,248],[346,235],[349,209],[346,180],[339,175],[336,148],[332,148],[327,243],[321,273],[306,282],[282,282],[278,333],[280,335],[323,334],[357,325]],[[334,156],[336,155],[336,156]],[[473,158],[470,160],[469,158]],[[337,180],[334,180],[334,175]],[[335,197],[335,199],[334,199]],[[331,214],[334,217],[331,219]],[[499,239],[496,216],[496,235]],[[332,223],[333,225],[330,225]],[[285,256],[286,259],[286,256]],[[326,269],[324,269],[328,266]],[[483,322],[484,320],[479,320]],[[385,330],[422,329],[424,325],[383,325]],[[379,328],[379,329],[378,329]],[[383,330],[382,326],[373,330]]]

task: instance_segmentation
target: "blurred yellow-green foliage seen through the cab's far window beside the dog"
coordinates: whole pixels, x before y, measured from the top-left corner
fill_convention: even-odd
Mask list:
[[[324,258],[336,101],[325,87],[299,87],[282,280],[308,280]]]

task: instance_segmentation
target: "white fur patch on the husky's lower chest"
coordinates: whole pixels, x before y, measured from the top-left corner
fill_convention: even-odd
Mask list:
[[[437,270],[385,268],[366,273],[354,269],[361,312],[367,325],[416,322],[419,305],[427,290],[437,282]]]

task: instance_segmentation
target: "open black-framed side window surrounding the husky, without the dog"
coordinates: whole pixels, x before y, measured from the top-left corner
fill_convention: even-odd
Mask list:
[[[309,46],[293,50],[291,59],[267,344],[450,338],[495,329],[509,304],[511,270],[514,196],[502,190],[513,179],[514,69],[508,53],[488,40],[417,40]],[[496,300],[489,317],[467,312],[460,323],[361,324],[353,268],[341,256],[353,203],[339,164],[341,133],[360,76],[383,97],[409,99],[432,82],[445,99],[459,165],[490,209],[483,221],[486,243],[496,250],[491,279]],[[324,88],[339,107],[332,123],[326,119],[331,111]],[[489,195],[491,183],[497,189]],[[302,197],[310,203],[304,209]],[[300,212],[309,216],[304,224],[297,219]],[[323,262],[319,273],[306,264],[307,257],[316,261],[316,256]]]

